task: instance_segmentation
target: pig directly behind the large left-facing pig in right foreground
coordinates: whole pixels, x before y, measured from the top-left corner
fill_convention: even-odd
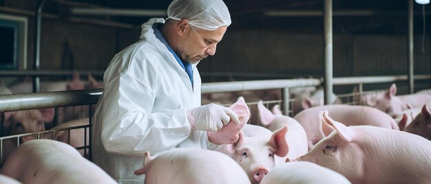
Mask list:
[[[322,126],[319,121],[319,112],[327,110],[333,118],[343,122],[346,126],[351,125],[371,125],[383,128],[399,130],[397,122],[392,117],[376,108],[369,106],[350,106],[350,105],[326,105],[308,108],[293,117],[304,128],[308,139],[308,150],[324,138],[320,132]]]

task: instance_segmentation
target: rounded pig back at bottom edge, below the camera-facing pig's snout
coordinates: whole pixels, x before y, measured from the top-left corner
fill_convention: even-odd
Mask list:
[[[343,175],[308,161],[288,162],[271,170],[260,184],[349,184]]]

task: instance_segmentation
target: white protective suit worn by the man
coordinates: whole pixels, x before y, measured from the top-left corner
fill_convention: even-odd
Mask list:
[[[187,109],[200,106],[201,80],[193,66],[193,84],[174,55],[143,24],[140,40],[116,54],[103,76],[105,89],[94,114],[92,159],[119,183],[143,183],[134,171],[171,148],[218,148],[207,133],[191,130]]]

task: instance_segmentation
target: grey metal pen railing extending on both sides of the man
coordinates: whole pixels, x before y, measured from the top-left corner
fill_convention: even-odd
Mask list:
[[[428,76],[417,76],[416,80],[430,80],[431,75]],[[381,82],[397,82],[407,80],[407,76],[380,76],[380,77],[353,77],[353,78],[334,78],[333,82],[335,85],[348,85],[357,84],[373,84]],[[202,84],[202,93],[218,93],[218,92],[229,92],[229,91],[247,91],[247,90],[260,90],[260,89],[282,89],[283,90],[283,106],[284,113],[287,114],[288,102],[291,101],[288,95],[288,89],[292,87],[309,87],[319,86],[322,84],[322,80],[319,79],[292,79],[292,80],[254,80],[254,81],[242,81],[242,82],[211,82]],[[363,93],[364,91],[359,91]],[[8,111],[22,111],[36,108],[52,108],[61,106],[79,106],[79,105],[90,105],[89,111],[89,124],[88,126],[76,126],[71,128],[61,128],[59,130],[45,130],[39,133],[28,133],[22,135],[10,135],[8,137],[0,137],[0,153],[3,154],[3,140],[4,139],[18,139],[28,135],[36,135],[40,137],[43,134],[51,133],[52,137],[58,131],[72,130],[74,128],[85,128],[88,129],[89,144],[78,149],[88,149],[88,159],[92,159],[92,146],[91,146],[91,128],[92,128],[92,104],[98,102],[98,98],[101,97],[103,89],[88,89],[88,90],[77,90],[77,91],[55,91],[55,92],[42,92],[42,93],[25,93],[25,94],[12,94],[12,95],[0,95],[0,112]],[[280,101],[271,101],[279,103]],[[255,102],[249,102],[249,105],[255,105]],[[2,158],[1,158],[2,159]]]

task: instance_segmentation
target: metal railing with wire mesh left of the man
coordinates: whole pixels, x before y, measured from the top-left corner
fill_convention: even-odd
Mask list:
[[[84,145],[76,148],[77,150],[84,150],[84,157],[92,160],[92,148],[91,148],[91,134],[92,134],[92,104],[98,102],[98,98],[102,95],[103,89],[88,89],[88,90],[76,90],[76,91],[55,91],[55,92],[42,92],[42,93],[24,93],[24,94],[12,94],[12,95],[0,95],[0,112],[10,111],[23,111],[38,108],[53,108],[61,106],[78,106],[78,105],[90,105],[88,117],[88,125],[73,126],[67,128],[56,128],[55,130],[45,130],[37,133],[25,133],[20,135],[10,135],[6,137],[0,137],[0,163],[3,163],[3,146],[6,141],[15,140],[16,144],[12,146],[19,146],[21,137],[36,136],[36,139],[41,138],[41,135],[51,135],[51,139],[54,139],[55,134],[67,131],[67,142],[70,143],[70,131],[74,129],[84,129]],[[3,127],[1,127],[3,128]],[[87,136],[88,140],[87,140]],[[88,152],[88,154],[87,154]]]

